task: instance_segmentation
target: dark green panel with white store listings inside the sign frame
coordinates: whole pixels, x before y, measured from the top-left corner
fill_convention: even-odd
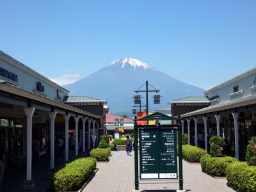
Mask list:
[[[177,179],[177,138],[173,129],[140,130],[140,179]]]

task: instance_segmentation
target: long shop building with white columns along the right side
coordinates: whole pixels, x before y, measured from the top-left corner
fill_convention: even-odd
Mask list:
[[[198,138],[199,131],[204,133],[206,150],[209,150],[209,136],[223,136],[227,143],[226,154],[243,160],[248,140],[256,136],[256,68],[204,94],[210,106],[180,115],[183,130],[186,126],[191,140]],[[197,140],[195,145],[198,145]]]

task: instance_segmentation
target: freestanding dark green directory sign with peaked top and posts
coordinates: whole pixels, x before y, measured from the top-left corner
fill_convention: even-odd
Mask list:
[[[138,134],[140,139],[140,179],[178,179],[183,190],[181,122],[179,119],[155,113],[139,120],[176,120],[175,125],[137,125],[134,119],[135,191],[139,190]],[[179,174],[177,164],[179,141]]]

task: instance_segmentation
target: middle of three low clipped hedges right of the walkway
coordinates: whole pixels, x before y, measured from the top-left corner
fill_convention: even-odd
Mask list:
[[[214,176],[225,176],[228,164],[236,161],[233,157],[211,157],[209,154],[200,159],[202,170]]]

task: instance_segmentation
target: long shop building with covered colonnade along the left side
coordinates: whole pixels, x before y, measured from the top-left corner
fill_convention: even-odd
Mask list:
[[[76,156],[95,146],[95,137],[99,138],[97,132],[106,132],[103,119],[106,100],[74,98],[68,93],[0,51],[0,142],[6,154],[6,169],[26,164],[26,179],[31,180],[35,140],[40,141],[40,152],[49,156],[51,168],[56,162],[54,149],[60,136],[64,140],[65,161],[70,159],[70,134],[75,134]],[[90,113],[90,108],[100,113],[97,110]]]

